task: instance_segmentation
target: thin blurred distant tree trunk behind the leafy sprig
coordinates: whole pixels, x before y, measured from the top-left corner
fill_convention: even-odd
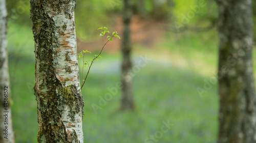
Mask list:
[[[131,1],[124,0],[123,7],[123,41],[122,41],[122,100],[121,110],[134,110],[133,92],[132,92],[132,44],[130,40],[130,21],[132,18]]]

